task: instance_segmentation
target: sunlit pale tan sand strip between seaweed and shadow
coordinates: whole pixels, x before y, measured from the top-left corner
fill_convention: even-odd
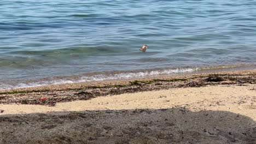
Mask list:
[[[255,90],[253,90],[255,88]],[[0,115],[61,111],[171,109],[229,111],[256,121],[256,85],[173,88],[160,91],[108,95],[90,100],[57,103],[56,106],[1,104]]]

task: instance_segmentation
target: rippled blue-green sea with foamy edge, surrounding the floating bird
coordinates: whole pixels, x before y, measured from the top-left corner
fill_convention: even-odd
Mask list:
[[[256,0],[0,1],[0,33],[0,89],[256,68]]]

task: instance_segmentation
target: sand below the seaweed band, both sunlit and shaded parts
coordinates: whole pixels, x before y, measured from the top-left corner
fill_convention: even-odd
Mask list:
[[[256,85],[0,104],[0,143],[256,143]]]

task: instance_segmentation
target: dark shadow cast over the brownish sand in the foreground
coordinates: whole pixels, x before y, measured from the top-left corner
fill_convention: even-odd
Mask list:
[[[253,119],[226,111],[106,110],[0,116],[0,143],[256,143]]]

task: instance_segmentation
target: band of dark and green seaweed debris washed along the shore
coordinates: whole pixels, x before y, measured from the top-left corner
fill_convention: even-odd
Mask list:
[[[0,91],[0,104],[37,104],[89,100],[107,95],[157,91],[170,88],[203,87],[208,85],[244,85],[256,83],[256,70],[226,71],[147,79],[101,81],[19,88]]]

